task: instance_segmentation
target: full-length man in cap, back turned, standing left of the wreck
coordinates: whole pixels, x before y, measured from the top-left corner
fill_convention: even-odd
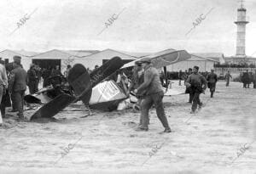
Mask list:
[[[15,69],[11,71],[9,80],[9,92],[12,93],[15,97],[15,107],[18,109],[18,116],[20,117],[20,120],[24,120],[23,98],[26,91],[27,76],[26,70],[24,70],[20,65],[20,56],[15,56],[14,59]]]

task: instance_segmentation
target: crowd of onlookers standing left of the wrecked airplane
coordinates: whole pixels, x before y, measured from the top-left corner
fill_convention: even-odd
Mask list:
[[[12,107],[10,112],[17,112],[19,120],[24,121],[23,105],[26,86],[30,94],[37,93],[40,81],[43,81],[43,87],[47,87],[52,82],[49,81],[52,77],[67,77],[68,71],[72,68],[71,65],[67,65],[64,76],[61,74],[59,65],[55,68],[42,69],[32,64],[26,71],[20,64],[20,56],[14,56],[13,60],[12,63],[5,65],[5,61],[0,58],[0,126],[3,123],[2,118],[5,117],[6,107]]]

